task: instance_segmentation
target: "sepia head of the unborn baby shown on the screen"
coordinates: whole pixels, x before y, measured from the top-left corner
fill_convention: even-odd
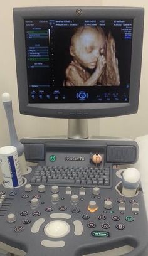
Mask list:
[[[82,67],[93,70],[104,47],[105,35],[101,28],[80,27],[71,38],[70,54]]]

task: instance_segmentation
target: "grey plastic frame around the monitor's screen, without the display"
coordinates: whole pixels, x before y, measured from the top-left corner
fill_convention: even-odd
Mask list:
[[[78,15],[77,10],[82,10]],[[29,7],[14,8],[14,41],[18,81],[19,110],[21,114],[55,118],[96,118],[134,114],[138,110],[144,8],[130,7]],[[26,46],[24,19],[133,19],[130,93],[128,103],[58,103],[33,104],[28,102]]]

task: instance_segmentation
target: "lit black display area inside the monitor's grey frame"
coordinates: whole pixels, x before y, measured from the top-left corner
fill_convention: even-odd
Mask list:
[[[29,103],[129,102],[132,19],[24,26]]]

